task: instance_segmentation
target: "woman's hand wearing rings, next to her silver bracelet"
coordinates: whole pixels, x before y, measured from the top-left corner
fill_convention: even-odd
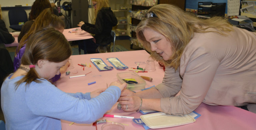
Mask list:
[[[120,97],[118,102],[126,112],[137,111],[140,108],[140,97],[137,96]]]

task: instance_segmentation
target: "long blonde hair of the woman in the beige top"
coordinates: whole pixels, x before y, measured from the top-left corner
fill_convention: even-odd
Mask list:
[[[194,14],[185,12],[177,6],[170,4],[159,4],[150,8],[147,12],[153,12],[157,17],[143,19],[137,26],[136,35],[140,43],[151,53],[155,60],[163,60],[155,51],[151,51],[151,46],[146,41],[143,31],[145,29],[154,30],[170,41],[173,54],[169,60],[164,61],[165,65],[177,69],[180,65],[180,58],[184,48],[192,39],[193,34],[216,32],[227,36],[232,31],[231,25],[221,17],[210,19],[200,19]],[[207,30],[212,28],[211,30]]]

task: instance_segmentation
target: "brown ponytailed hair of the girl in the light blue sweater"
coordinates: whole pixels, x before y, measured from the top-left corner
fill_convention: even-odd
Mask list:
[[[30,35],[21,64],[36,65],[41,59],[59,63],[68,59],[71,54],[71,47],[65,36],[52,27],[46,27]],[[33,81],[40,83],[38,78],[35,68],[30,68],[28,73],[16,82],[16,89],[23,82],[26,82],[26,86]]]

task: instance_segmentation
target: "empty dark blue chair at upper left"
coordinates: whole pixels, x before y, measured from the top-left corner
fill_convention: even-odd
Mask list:
[[[22,25],[19,25],[20,22],[27,22],[28,16],[24,9],[13,9],[8,12],[10,28],[13,30],[20,31]]]

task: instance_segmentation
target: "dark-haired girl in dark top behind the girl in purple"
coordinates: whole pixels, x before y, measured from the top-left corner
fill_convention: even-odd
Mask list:
[[[49,0],[35,0],[31,6],[31,11],[29,13],[29,21],[22,25],[20,34],[18,36],[18,42],[20,43],[21,38],[29,31],[30,27],[34,23],[35,19],[39,14],[46,8],[52,8]]]

